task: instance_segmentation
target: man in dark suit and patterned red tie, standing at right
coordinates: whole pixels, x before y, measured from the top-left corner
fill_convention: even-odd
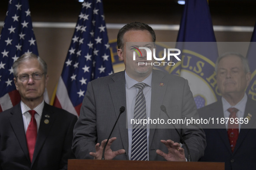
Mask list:
[[[202,118],[215,121],[211,127],[203,126],[207,147],[200,161],[225,162],[225,170],[255,170],[256,102],[245,94],[251,78],[248,61],[226,53],[217,59],[215,71],[222,98],[198,110]]]

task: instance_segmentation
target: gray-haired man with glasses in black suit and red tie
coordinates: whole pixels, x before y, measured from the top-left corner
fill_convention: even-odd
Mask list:
[[[0,113],[0,170],[66,170],[77,117],[43,100],[47,65],[35,54],[13,63],[21,102]]]

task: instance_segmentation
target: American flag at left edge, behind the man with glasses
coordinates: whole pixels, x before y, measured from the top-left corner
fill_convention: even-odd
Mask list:
[[[0,112],[20,101],[13,81],[13,62],[29,52],[38,55],[28,0],[10,0],[0,35]]]

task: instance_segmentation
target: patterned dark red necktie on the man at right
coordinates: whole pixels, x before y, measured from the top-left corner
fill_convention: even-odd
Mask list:
[[[234,148],[236,146],[237,143],[237,138],[239,135],[239,124],[236,124],[236,120],[235,118],[237,118],[237,111],[238,109],[236,108],[229,108],[227,111],[230,112],[230,116],[229,118],[233,118],[233,123],[231,123],[230,121],[228,121],[228,126],[227,126],[227,135],[228,135],[228,139],[230,142],[230,147],[232,152],[234,151]]]

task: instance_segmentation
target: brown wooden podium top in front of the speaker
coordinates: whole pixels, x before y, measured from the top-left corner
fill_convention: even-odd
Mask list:
[[[68,170],[224,170],[223,162],[168,162],[69,159]]]

